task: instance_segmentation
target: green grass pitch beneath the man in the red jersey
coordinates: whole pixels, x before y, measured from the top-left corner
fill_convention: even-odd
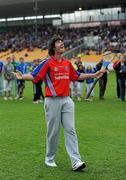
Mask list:
[[[44,165],[46,125],[43,104],[32,103],[27,83],[23,101],[0,98],[0,180],[126,180],[126,102],[116,98],[109,74],[104,101],[77,102],[76,131],[85,172],[72,172],[61,130],[57,168]]]

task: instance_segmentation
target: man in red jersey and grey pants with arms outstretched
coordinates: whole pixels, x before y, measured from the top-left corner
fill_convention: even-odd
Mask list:
[[[101,72],[95,74],[78,73],[74,70],[70,61],[62,57],[65,51],[63,40],[60,36],[54,36],[50,42],[47,59],[36,67],[31,74],[15,74],[18,79],[39,80],[45,82],[45,115],[47,124],[46,156],[45,164],[56,167],[54,161],[58,145],[60,126],[64,128],[65,146],[70,157],[72,169],[82,170],[86,167],[81,161],[78,151],[78,140],[74,127],[74,103],[69,97],[70,81],[95,78]]]

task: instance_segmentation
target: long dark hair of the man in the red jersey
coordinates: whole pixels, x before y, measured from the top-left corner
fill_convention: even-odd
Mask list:
[[[54,51],[54,48],[55,48],[55,42],[56,41],[63,41],[62,37],[60,35],[54,35],[49,43],[49,48],[48,48],[48,53],[50,56],[54,56],[55,54],[55,51]]]

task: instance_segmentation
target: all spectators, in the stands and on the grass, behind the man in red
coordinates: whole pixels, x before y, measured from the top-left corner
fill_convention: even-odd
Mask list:
[[[126,52],[126,29],[125,27],[97,27],[97,28],[56,28],[52,26],[38,26],[38,33],[36,36],[33,27],[21,27],[15,29],[4,30],[0,33],[0,52],[6,52],[11,49],[11,52],[19,52],[23,49],[33,51],[34,48],[47,49],[49,39],[53,34],[59,34],[63,37],[66,49],[72,49],[77,45],[84,42],[85,36],[97,36],[98,42],[94,47],[91,47],[94,54],[101,54],[103,49],[115,50],[115,52]],[[83,49],[84,55],[90,55],[90,48]],[[117,97],[122,101],[125,100],[125,86],[126,86],[126,58],[120,54],[118,60],[114,63],[113,68],[116,74],[117,82]],[[25,81],[16,80],[13,75],[13,71],[18,71],[22,74],[27,73],[30,70],[36,68],[41,60],[34,60],[32,63],[26,63],[24,58],[19,59],[19,63],[15,61],[15,57],[8,57],[6,63],[0,61],[0,96],[4,96],[4,99],[23,99]],[[95,67],[88,65],[87,67],[81,62],[80,58],[77,58],[73,63],[74,68],[79,72],[95,73],[102,66],[103,60],[100,60]],[[85,80],[86,94],[88,94],[91,86],[94,83],[93,78]],[[15,95],[12,94],[12,85],[15,86]],[[44,100],[42,91],[43,82],[40,81],[37,84],[33,84],[33,102],[39,103]],[[76,97],[78,101],[81,100],[83,93],[84,81],[77,81],[71,83],[70,94],[72,97]],[[105,90],[107,86],[107,72],[99,80],[99,99],[104,100]],[[87,99],[91,101],[94,97],[94,90],[91,92],[91,96]]]

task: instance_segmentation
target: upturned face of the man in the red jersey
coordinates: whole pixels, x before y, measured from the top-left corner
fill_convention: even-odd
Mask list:
[[[55,53],[62,54],[65,51],[64,43],[61,40],[55,42]]]

